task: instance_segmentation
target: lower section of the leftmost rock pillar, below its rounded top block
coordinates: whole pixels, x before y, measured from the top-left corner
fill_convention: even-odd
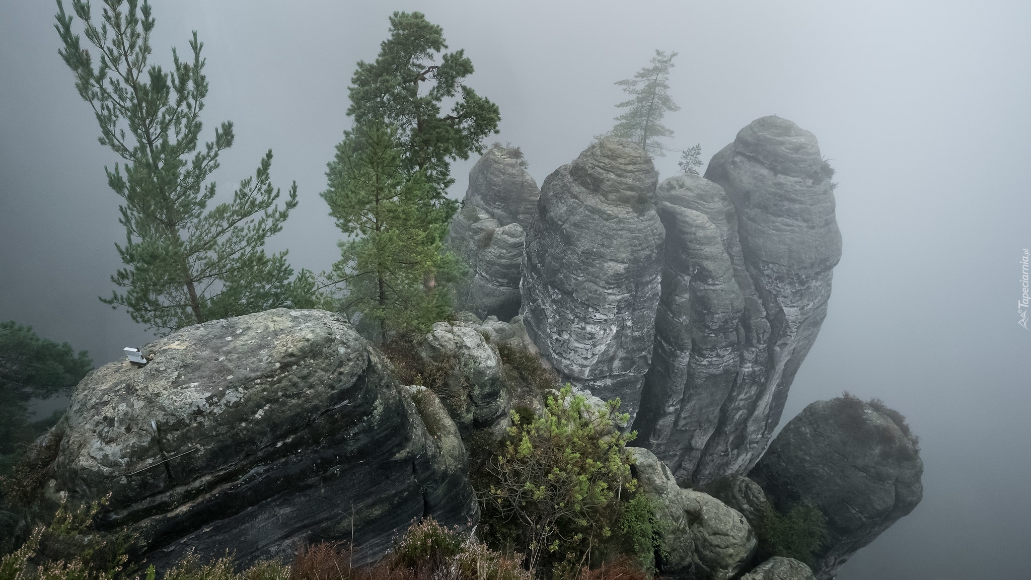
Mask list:
[[[458,287],[458,305],[477,317],[509,320],[519,314],[526,232],[516,223],[499,225],[485,210],[466,205],[447,234],[452,248],[470,268]]]

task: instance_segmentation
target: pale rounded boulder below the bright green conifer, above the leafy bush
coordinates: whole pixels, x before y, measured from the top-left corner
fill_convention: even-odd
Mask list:
[[[474,325],[435,323],[419,354],[450,370],[440,388],[444,407],[461,427],[487,427],[507,415],[501,358]]]

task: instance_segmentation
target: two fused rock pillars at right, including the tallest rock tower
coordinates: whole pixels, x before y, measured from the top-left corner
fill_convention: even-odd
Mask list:
[[[662,300],[635,427],[680,481],[746,472],[779,421],[841,253],[831,173],[812,133],[764,117],[706,179],[659,188]]]

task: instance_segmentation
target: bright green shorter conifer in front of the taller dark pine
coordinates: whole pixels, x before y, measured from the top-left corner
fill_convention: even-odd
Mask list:
[[[329,163],[322,194],[348,237],[330,275],[344,286],[339,310],[360,314],[359,329],[377,342],[425,332],[441,320],[447,294],[424,282],[455,267],[438,239],[433,185],[423,171],[405,170],[399,141],[381,122],[350,132]]]

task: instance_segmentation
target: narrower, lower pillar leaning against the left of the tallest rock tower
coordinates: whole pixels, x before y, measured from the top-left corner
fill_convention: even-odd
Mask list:
[[[738,409],[742,387],[765,378],[769,324],[723,188],[678,175],[662,183],[657,198],[665,265],[655,354],[635,427],[677,479],[691,481],[706,453],[723,451],[707,445]]]

